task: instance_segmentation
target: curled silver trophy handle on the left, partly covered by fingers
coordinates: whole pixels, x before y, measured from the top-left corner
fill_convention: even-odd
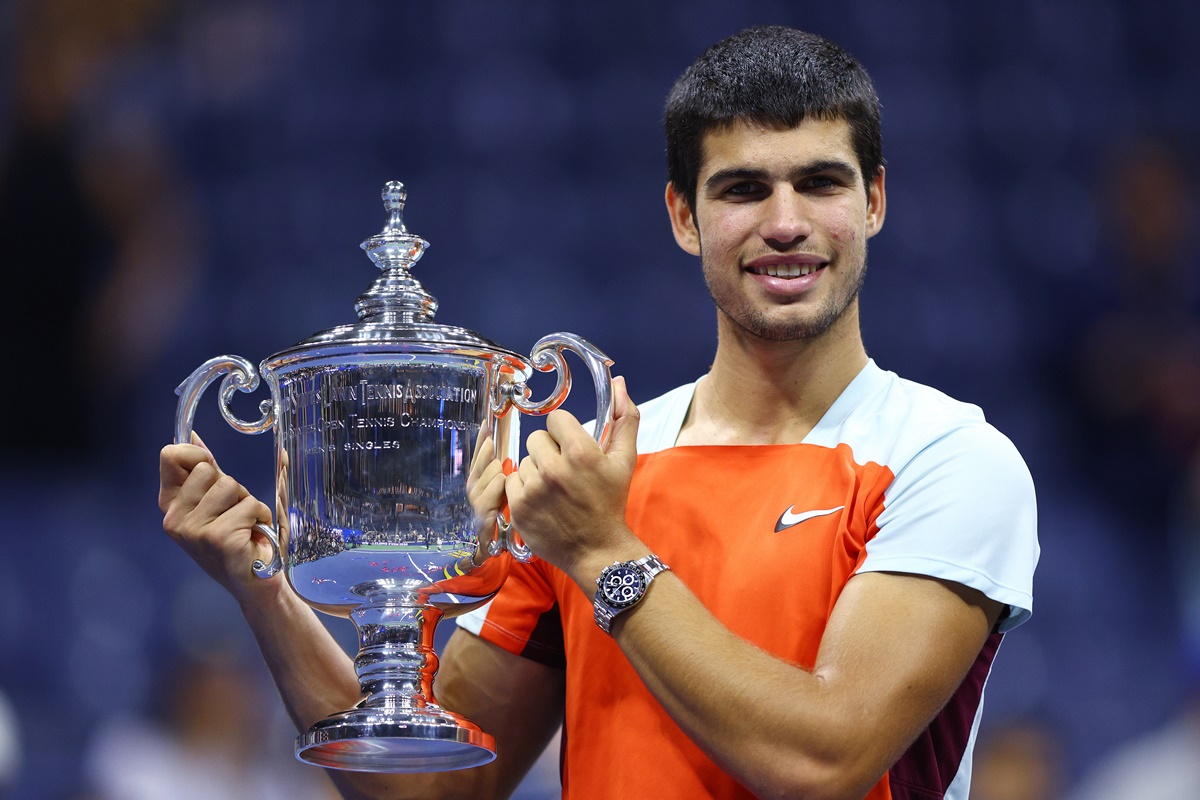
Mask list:
[[[263,401],[258,408],[263,416],[254,422],[246,422],[233,413],[230,402],[235,391],[252,392],[258,389],[258,372],[254,366],[236,355],[222,355],[209,359],[196,368],[187,379],[175,389],[179,395],[179,409],[175,411],[175,444],[186,445],[192,443],[192,427],[196,421],[196,407],[199,405],[200,396],[221,375],[221,416],[230,426],[242,433],[263,433],[275,425],[275,405],[271,401]],[[254,559],[251,569],[259,578],[270,578],[283,567],[283,558],[280,555],[280,535],[270,525],[258,523],[254,529],[266,536],[271,543],[271,560],[263,561]]]

